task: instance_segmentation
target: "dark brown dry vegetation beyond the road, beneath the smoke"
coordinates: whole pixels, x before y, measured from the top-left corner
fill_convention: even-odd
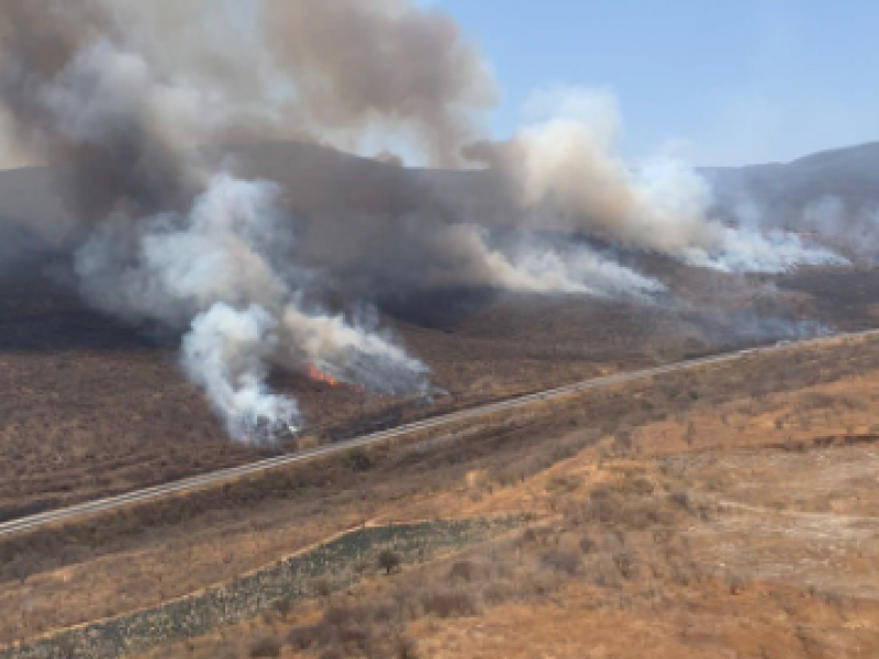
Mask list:
[[[846,328],[875,323],[879,290],[871,272],[803,271],[782,278],[772,292],[757,277],[642,260],[638,266],[666,281],[679,303],[483,292],[436,297],[416,313],[387,315],[430,365],[432,382],[449,394],[430,407],[296,373],[275,373],[272,384],[300,400],[310,434],[330,440],[603,372],[765,342],[774,330],[761,327],[761,317],[817,317]],[[0,278],[0,518],[262,455],[231,444],[203,396],[181,378],[175,337],[159,340],[148,328],[88,310],[47,267],[35,261]],[[836,298],[843,302],[834,305]]]

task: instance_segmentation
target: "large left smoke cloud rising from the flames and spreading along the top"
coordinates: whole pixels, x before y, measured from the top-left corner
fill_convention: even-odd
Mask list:
[[[320,52],[325,34],[292,53],[286,37],[276,40],[283,51],[264,47],[256,22],[275,26],[283,12],[292,21],[286,25],[298,26],[304,2],[253,7],[255,13],[213,2],[73,8],[5,0],[0,90],[4,120],[20,131],[20,142],[68,165],[58,183],[86,226],[76,271],[87,299],[127,320],[188,328],[186,372],[233,436],[263,442],[299,423],[296,404],[266,389],[271,364],[312,366],[394,394],[426,392],[427,369],[374,323],[309,302],[310,273],[290,265],[296,245],[289,226],[278,222],[278,190],[211,171],[191,147],[236,132],[279,131],[286,112],[301,120],[297,132],[357,132],[402,120],[432,158],[445,160],[447,145],[468,130],[467,107],[489,98],[490,85],[483,86],[479,58],[443,14],[400,2],[368,10],[322,3],[316,11],[310,3],[308,19],[322,30],[344,27],[347,41],[360,35],[349,56],[333,62],[340,42]],[[252,21],[245,38],[259,46],[243,63],[225,41],[241,20]],[[199,37],[197,52],[183,25]],[[349,96],[369,55],[363,48],[375,55],[379,43],[392,58],[427,68],[410,69],[393,89],[360,87],[357,93],[369,99]],[[296,81],[285,87],[274,70],[253,76],[255,64],[265,65],[258,70],[288,65]],[[422,72],[429,75],[413,94],[412,76]],[[483,87],[489,91],[478,91]],[[322,118],[327,123],[319,126]]]

